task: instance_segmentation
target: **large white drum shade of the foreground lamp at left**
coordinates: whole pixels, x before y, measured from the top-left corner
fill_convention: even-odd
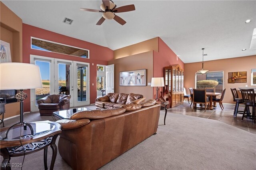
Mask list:
[[[0,89],[42,88],[40,69],[28,63],[0,63]]]

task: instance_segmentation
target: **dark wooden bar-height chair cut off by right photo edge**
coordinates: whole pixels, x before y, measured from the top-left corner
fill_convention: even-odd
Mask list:
[[[245,105],[242,120],[244,119],[244,115],[246,111],[248,111],[249,107],[252,107],[252,119],[253,123],[256,124],[256,101],[254,89],[240,89],[240,91],[242,94],[243,103]]]

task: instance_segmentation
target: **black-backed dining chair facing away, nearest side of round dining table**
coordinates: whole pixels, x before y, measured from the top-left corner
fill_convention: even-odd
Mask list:
[[[209,107],[209,99],[208,97],[206,97],[206,89],[193,89],[193,102],[194,102],[194,105],[193,105],[193,111],[194,111],[194,108],[196,109],[196,104],[199,103],[199,104],[204,104],[204,112],[206,112],[206,105],[208,107],[208,110],[210,110],[210,107]]]

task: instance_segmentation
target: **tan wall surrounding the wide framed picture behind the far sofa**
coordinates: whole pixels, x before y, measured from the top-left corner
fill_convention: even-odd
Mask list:
[[[153,77],[153,51],[148,51],[129,57],[122,57],[108,61],[108,64],[114,64],[114,92],[115,93],[137,93],[142,94],[146,99],[152,99],[153,88],[146,86],[120,86],[119,72],[146,69],[146,82],[151,82]]]

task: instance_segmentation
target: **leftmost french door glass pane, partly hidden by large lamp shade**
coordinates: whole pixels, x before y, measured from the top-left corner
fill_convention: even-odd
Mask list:
[[[36,101],[50,95],[50,63],[45,61],[35,61],[40,69],[43,88],[36,89]]]

